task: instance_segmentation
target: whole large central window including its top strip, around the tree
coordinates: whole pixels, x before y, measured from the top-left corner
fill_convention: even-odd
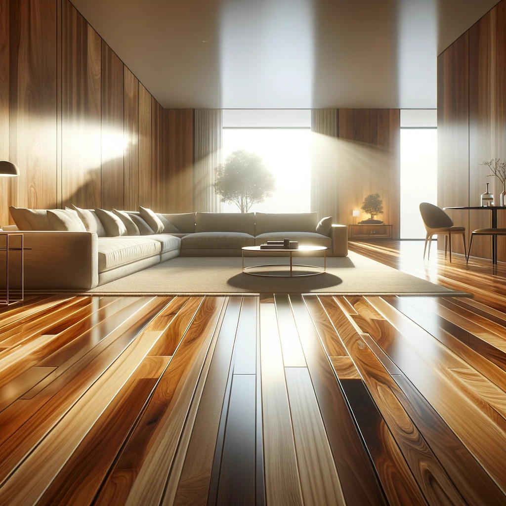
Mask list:
[[[260,155],[276,179],[276,191],[250,211],[306,213],[311,192],[311,115],[309,110],[224,110],[224,159],[244,149]],[[223,203],[224,213],[239,212]]]

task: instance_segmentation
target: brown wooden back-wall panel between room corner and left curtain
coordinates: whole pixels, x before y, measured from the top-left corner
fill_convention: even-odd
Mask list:
[[[171,213],[193,210],[193,110],[167,109],[164,145],[168,149],[168,207]]]

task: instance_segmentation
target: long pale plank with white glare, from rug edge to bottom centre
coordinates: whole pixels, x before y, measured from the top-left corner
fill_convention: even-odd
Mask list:
[[[260,361],[267,504],[303,504],[283,357],[272,302],[260,302]]]

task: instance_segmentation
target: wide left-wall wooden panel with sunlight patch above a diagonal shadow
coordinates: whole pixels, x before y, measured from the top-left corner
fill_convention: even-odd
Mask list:
[[[101,207],[102,39],[62,4],[63,206]]]

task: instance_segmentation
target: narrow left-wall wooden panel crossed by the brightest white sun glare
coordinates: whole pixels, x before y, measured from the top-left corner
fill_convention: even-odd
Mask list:
[[[124,207],[123,63],[102,40],[102,206]]]

